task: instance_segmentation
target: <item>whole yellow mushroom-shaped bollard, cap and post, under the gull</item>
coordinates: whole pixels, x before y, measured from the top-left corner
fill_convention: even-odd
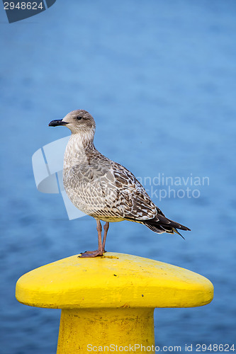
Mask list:
[[[156,307],[197,307],[212,283],[174,265],[123,253],[72,256],[43,265],[16,283],[16,299],[62,309],[57,354],[154,353]]]

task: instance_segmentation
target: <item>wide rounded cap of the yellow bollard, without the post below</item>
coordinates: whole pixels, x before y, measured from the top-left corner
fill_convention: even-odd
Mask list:
[[[56,309],[197,307],[213,299],[203,276],[123,253],[71,256],[31,270],[16,283],[18,302]]]

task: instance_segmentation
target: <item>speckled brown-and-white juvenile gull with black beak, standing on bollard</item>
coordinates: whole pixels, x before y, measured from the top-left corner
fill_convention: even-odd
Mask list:
[[[49,125],[66,125],[71,130],[64,153],[64,189],[79,210],[96,219],[99,248],[81,253],[80,257],[96,257],[105,252],[109,222],[139,222],[157,234],[179,234],[176,229],[189,230],[167,219],[133,173],[94,147],[96,125],[86,110],[73,110],[61,120],[52,120]],[[106,222],[103,241],[100,220]]]

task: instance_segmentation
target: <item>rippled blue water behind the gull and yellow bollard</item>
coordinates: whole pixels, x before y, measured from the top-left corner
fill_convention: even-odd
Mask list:
[[[96,246],[94,219],[69,221],[60,195],[38,192],[31,166],[36,150],[69,133],[48,122],[77,108],[94,115],[97,149],[142,181],[208,178],[187,185],[198,198],[159,200],[168,187],[154,185],[153,201],[191,228],[186,241],[122,222],[111,224],[106,249],[213,282],[206,307],[156,310],[159,346],[234,343],[235,1],[57,0],[18,23],[0,14],[2,353],[55,353],[60,310],[19,304],[16,281]]]

